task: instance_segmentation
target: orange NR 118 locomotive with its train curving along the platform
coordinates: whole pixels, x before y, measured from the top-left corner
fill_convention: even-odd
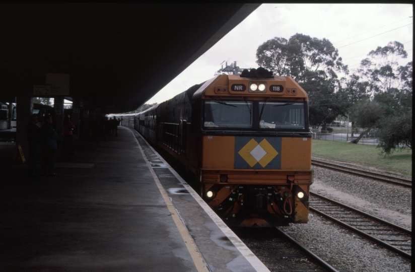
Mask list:
[[[229,226],[307,223],[311,138],[307,93],[263,69],[218,75],[122,118],[195,175]]]

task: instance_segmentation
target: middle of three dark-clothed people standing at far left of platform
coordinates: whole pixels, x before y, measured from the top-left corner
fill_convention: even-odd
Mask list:
[[[59,138],[57,132],[52,126],[53,118],[51,115],[46,116],[46,122],[42,127],[43,132],[43,146],[42,146],[42,174],[56,176],[53,172],[55,163],[57,142]]]

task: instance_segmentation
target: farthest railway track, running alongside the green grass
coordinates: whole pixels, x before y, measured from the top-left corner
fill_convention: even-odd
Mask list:
[[[336,171],[342,171],[345,173],[359,175],[362,177],[372,178],[372,179],[381,180],[381,181],[385,181],[389,183],[394,183],[394,184],[402,185],[405,187],[410,187],[410,188],[412,187],[412,180],[409,178],[405,178],[405,177],[386,175],[382,173],[371,172],[367,170],[357,169],[357,168],[353,168],[349,166],[338,165],[338,164],[333,164],[333,163],[328,163],[328,162],[323,162],[323,161],[318,161],[318,160],[311,160],[311,165],[318,166],[318,167],[324,167],[324,168],[328,168],[328,169],[336,170]]]

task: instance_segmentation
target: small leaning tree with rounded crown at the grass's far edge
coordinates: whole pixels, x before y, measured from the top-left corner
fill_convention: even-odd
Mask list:
[[[376,101],[360,100],[353,105],[351,108],[352,121],[366,129],[360,133],[358,138],[351,141],[351,143],[357,144],[369,130],[379,126],[379,120],[384,118],[387,114],[390,114],[390,109]]]

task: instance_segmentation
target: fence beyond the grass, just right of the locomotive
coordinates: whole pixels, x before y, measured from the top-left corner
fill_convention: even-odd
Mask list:
[[[326,127],[326,130],[312,128],[313,139],[349,143],[358,138],[360,133],[366,130],[365,128],[356,127],[352,130],[352,127],[340,126],[338,123],[327,124]],[[377,131],[375,129],[371,129],[360,139],[359,144],[377,146],[379,142],[376,133]]]

